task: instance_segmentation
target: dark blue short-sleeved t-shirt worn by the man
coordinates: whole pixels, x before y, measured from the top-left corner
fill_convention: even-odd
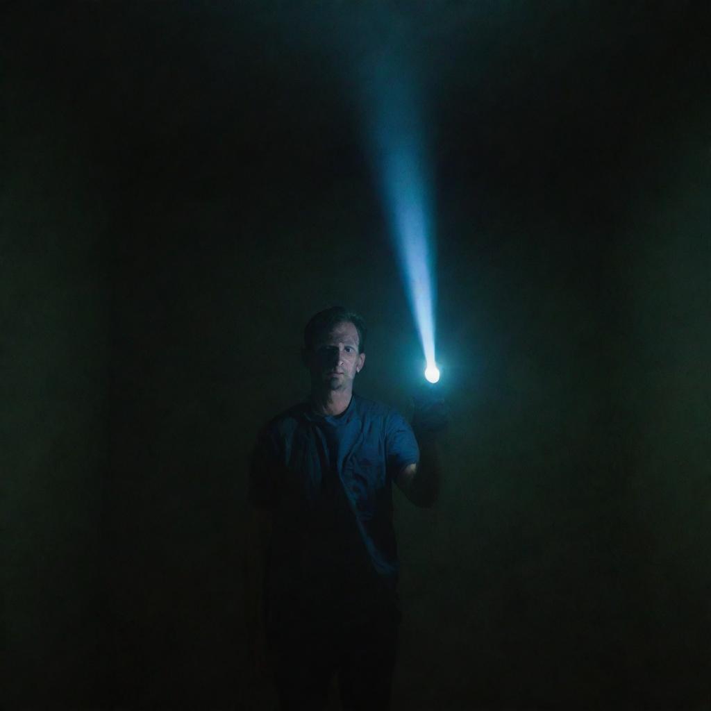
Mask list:
[[[274,511],[271,624],[314,614],[348,619],[395,602],[392,479],[418,459],[405,419],[355,394],[338,417],[303,403],[262,429],[249,497]]]

